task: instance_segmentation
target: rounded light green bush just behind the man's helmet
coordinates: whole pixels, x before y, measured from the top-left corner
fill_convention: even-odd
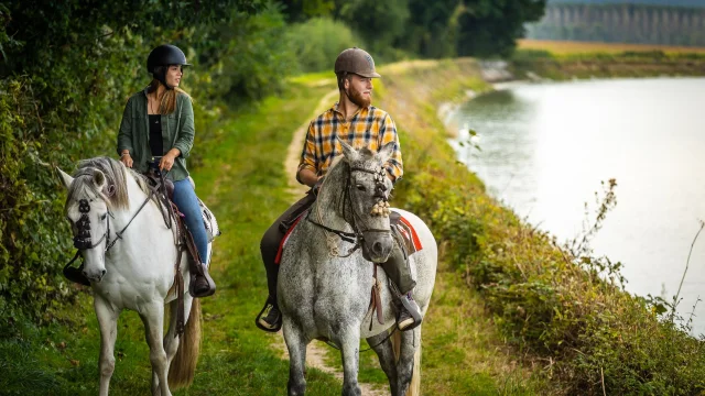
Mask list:
[[[301,72],[329,72],[338,54],[352,46],[365,47],[343,22],[315,18],[290,28],[289,40]]]

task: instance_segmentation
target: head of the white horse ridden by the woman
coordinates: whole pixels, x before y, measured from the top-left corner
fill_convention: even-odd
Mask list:
[[[105,253],[110,243],[111,210],[127,206],[124,169],[107,157],[82,162],[73,177],[56,169],[68,190],[64,212],[70,222],[74,246],[84,256],[84,275],[98,283],[107,272]]]

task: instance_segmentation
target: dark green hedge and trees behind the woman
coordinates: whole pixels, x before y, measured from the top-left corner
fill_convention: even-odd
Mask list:
[[[174,43],[194,64],[184,88],[196,98],[200,144],[213,135],[215,105],[261,98],[295,69],[278,40],[284,30],[279,8],[258,0],[0,4],[3,318],[50,319],[75,295],[59,275],[73,254],[54,167],[72,172],[80,158],[115,152],[124,102],[150,80],[149,51]]]

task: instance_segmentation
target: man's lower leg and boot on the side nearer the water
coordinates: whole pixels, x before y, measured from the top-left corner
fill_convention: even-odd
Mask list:
[[[392,232],[392,235],[394,233]],[[409,256],[403,243],[394,235],[394,245],[382,268],[392,284],[394,306],[398,309],[397,327],[401,331],[411,330],[421,324],[423,318],[419,305],[411,296],[411,290],[416,286],[416,280],[411,274]]]

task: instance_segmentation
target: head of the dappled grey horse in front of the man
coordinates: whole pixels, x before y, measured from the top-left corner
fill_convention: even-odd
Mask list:
[[[384,163],[392,155],[394,142],[384,145],[379,153],[368,148],[356,150],[338,140],[347,164],[347,178],[343,189],[349,207],[344,218],[362,239],[362,255],[375,263],[383,263],[392,251],[389,228],[389,195],[392,182],[387,177]],[[359,238],[359,237],[358,237]]]

